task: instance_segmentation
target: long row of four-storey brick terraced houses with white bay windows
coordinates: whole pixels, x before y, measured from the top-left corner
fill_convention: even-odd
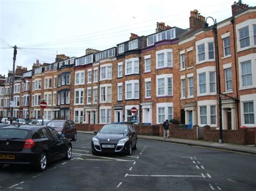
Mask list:
[[[232,17],[217,23],[218,53],[214,31],[204,31],[205,17],[194,10],[189,21],[189,29],[157,23],[156,33],[131,33],[104,51],[88,48],[79,58],[61,54],[54,63],[37,62],[15,79],[14,116],[85,124],[178,119],[218,128],[221,109],[224,130],[256,126],[256,7],[234,2]],[[10,116],[10,80],[1,88],[0,115]],[[48,103],[44,113],[41,100]]]

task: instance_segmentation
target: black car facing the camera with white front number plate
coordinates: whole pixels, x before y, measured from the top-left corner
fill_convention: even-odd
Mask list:
[[[97,132],[96,132],[97,133]],[[92,138],[92,154],[132,154],[137,149],[137,133],[129,124],[107,124]]]

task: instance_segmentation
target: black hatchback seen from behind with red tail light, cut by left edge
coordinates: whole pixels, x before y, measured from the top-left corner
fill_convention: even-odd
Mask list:
[[[48,162],[70,159],[71,155],[70,140],[48,126],[6,126],[0,129],[0,167],[27,164],[44,171]]]

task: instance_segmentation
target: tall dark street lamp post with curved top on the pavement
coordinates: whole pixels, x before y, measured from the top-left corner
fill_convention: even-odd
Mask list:
[[[218,44],[218,31],[216,19],[212,17],[207,17],[205,19],[204,31],[210,30],[208,26],[207,19],[211,18],[213,20],[212,30],[214,31],[214,44],[215,44],[215,59],[216,59],[216,69],[217,69],[217,96],[218,96],[218,111],[219,111],[219,143],[223,142],[223,128],[222,128],[222,112],[221,112],[221,88],[220,88],[220,63],[219,63],[219,44]]]

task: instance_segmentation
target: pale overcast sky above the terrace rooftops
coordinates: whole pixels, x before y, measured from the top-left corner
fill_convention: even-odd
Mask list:
[[[130,33],[152,34],[157,22],[187,29],[194,9],[220,22],[232,16],[233,2],[0,0],[0,74],[12,70],[14,45],[16,66],[30,70],[37,59],[52,63],[56,54],[79,57],[86,48],[104,50],[129,40]],[[255,0],[242,3],[256,6]]]

